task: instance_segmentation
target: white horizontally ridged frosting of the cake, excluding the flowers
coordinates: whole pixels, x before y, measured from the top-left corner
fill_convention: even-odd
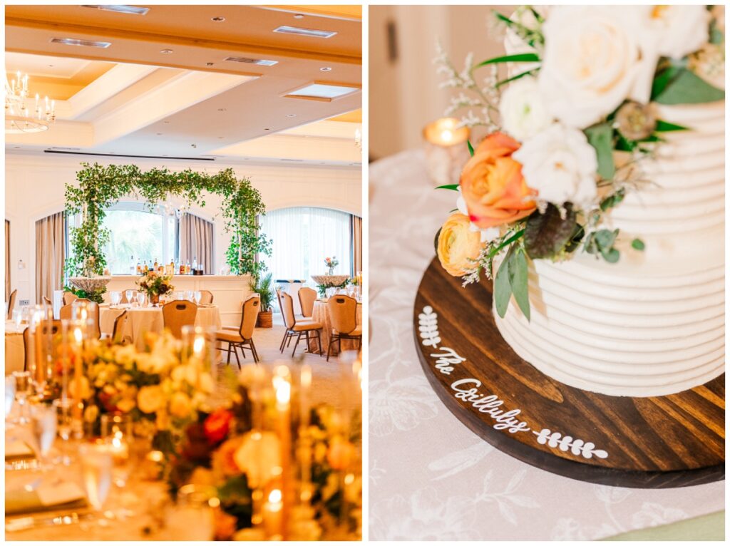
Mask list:
[[[512,302],[499,331],[520,357],[567,385],[661,396],[712,380],[725,363],[724,101],[660,107],[691,131],[642,161],[650,183],[612,209],[618,264],[578,254],[530,266],[531,321]],[[631,250],[640,237],[644,252]]]

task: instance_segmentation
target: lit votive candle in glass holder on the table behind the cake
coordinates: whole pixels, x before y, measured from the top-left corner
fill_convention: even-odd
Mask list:
[[[469,161],[469,128],[456,118],[441,118],[423,128],[426,166],[437,185],[458,184],[461,169]]]

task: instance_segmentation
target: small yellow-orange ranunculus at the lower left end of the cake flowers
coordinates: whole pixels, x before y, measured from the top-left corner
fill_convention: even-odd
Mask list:
[[[473,269],[482,250],[481,234],[471,228],[469,217],[458,212],[450,215],[441,226],[437,254],[448,274],[461,277]]]

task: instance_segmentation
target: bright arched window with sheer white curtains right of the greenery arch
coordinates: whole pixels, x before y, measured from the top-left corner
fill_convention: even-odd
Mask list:
[[[261,231],[273,239],[272,255],[263,256],[274,280],[304,280],[325,274],[325,258],[337,257],[334,274],[352,274],[350,215],[319,207],[266,212]]]

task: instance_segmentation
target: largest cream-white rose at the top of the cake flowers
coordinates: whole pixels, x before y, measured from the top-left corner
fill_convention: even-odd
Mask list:
[[[585,128],[629,96],[639,47],[621,8],[555,7],[542,30],[545,54],[538,82],[551,115]]]

